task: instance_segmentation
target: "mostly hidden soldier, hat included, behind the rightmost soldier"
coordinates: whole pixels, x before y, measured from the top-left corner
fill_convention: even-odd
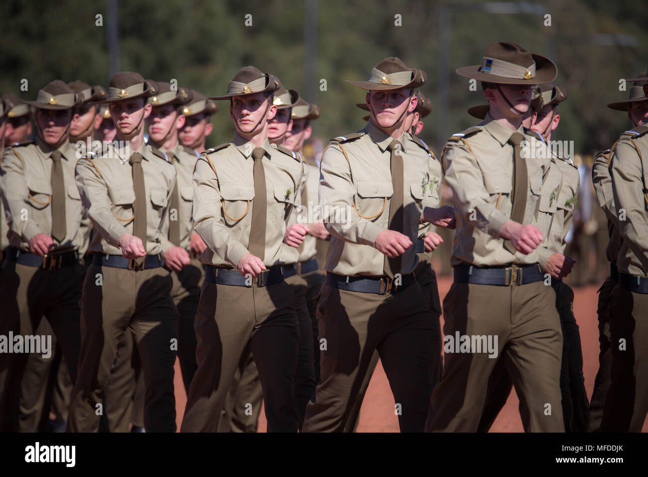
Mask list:
[[[632,128],[640,127],[648,121],[648,95],[644,92],[643,86],[648,84],[648,73],[640,73],[638,80],[630,88],[630,98],[627,101],[617,101],[608,104],[608,108],[627,112],[632,123]],[[618,144],[618,141],[615,145]],[[599,371],[594,380],[594,390],[590,400],[590,408],[587,416],[587,432],[597,432],[601,426],[605,397],[610,387],[610,368],[612,366],[612,351],[610,349],[610,295],[614,286],[619,281],[619,274],[616,260],[621,249],[621,236],[617,208],[614,205],[612,195],[612,178],[610,178],[611,149],[597,154],[594,165],[592,165],[592,184],[596,190],[596,197],[599,205],[605,212],[608,219],[608,236],[610,238],[605,254],[610,262],[610,275],[598,290],[599,302],[597,315],[599,321]]]

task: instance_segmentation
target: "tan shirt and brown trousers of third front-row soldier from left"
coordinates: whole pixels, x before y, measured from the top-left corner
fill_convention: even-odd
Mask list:
[[[266,188],[265,246],[260,258],[269,269],[260,280],[262,284],[272,280],[266,286],[257,286],[259,280],[251,278],[250,286],[233,284],[243,278],[236,267],[249,253],[257,203],[251,155],[255,146],[237,135],[232,143],[205,151],[196,162],[194,224],[208,247],[200,261],[210,267],[194,323],[198,371],[189,388],[183,432],[218,428],[235,371],[243,367],[248,349],[259,371],[268,430],[297,430],[294,379],[299,325],[292,308],[294,293],[283,281],[280,265],[286,218],[299,193],[302,166],[297,156],[268,140],[260,147],[265,150],[261,160]]]

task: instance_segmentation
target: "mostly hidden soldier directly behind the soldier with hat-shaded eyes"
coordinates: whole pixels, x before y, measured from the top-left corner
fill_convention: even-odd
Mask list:
[[[420,134],[423,128],[423,122],[421,119],[428,116],[432,111],[432,102],[425,97],[420,90],[416,90],[417,104],[416,109],[408,113],[406,119],[405,130],[410,134],[410,136],[416,136]],[[356,104],[358,108],[363,110],[369,110],[369,106],[364,103]],[[369,116],[366,116],[365,121],[369,121]],[[422,140],[415,138],[415,140]],[[432,153],[432,151],[430,151]],[[432,154],[434,157],[434,154]],[[430,186],[432,197],[434,199],[439,199],[439,191],[441,190],[441,163],[436,160],[432,163],[435,169],[435,175],[430,179]],[[439,202],[435,202],[435,206],[439,206]],[[414,270],[414,276],[419,282],[419,285],[424,290],[426,298],[429,298],[430,301],[430,310],[435,320],[439,320],[441,317],[441,301],[439,299],[439,288],[437,287],[437,277],[432,267],[432,252],[443,243],[443,238],[437,232],[435,232],[434,227],[429,223],[421,224],[419,226],[419,238],[417,238],[415,247],[416,254],[419,258],[419,263]],[[450,238],[452,238],[452,229],[442,227],[441,230],[448,232]],[[446,234],[447,235],[447,234]],[[439,325],[440,326],[440,325]],[[437,361],[437,366],[434,370],[434,375],[432,378],[432,387],[441,380],[441,369],[443,368],[443,356],[441,356],[441,349],[439,351],[439,361]],[[353,410],[349,415],[349,421],[345,428],[346,432],[353,432],[358,426],[358,419],[360,417],[360,408],[362,408],[362,401],[364,400],[365,393],[367,392],[367,387],[369,387],[369,382],[371,382],[371,376],[378,365],[378,352],[375,351],[371,357],[371,362],[369,363],[369,368],[367,369],[367,374],[365,375],[362,385],[360,385],[360,391],[358,392],[358,398],[353,406]]]

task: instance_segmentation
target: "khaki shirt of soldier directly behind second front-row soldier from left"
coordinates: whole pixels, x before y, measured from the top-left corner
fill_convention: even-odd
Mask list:
[[[157,147],[156,143],[149,140],[149,143],[153,147]],[[189,250],[189,243],[191,242],[191,234],[194,232],[194,185],[192,182],[192,176],[194,174],[194,167],[196,167],[196,160],[198,160],[198,154],[189,148],[176,144],[176,147],[172,151],[167,151],[163,147],[157,147],[160,151],[167,154],[169,160],[171,159],[169,152],[173,153],[175,159],[172,164],[176,168],[176,173],[178,174],[176,180],[178,180],[178,195],[180,199],[180,206],[178,210],[178,216],[176,217],[180,221],[180,244],[179,247],[182,247],[185,250]],[[171,213],[171,211],[169,211]],[[165,232],[168,237],[168,228],[170,227],[170,218],[168,221],[165,221],[166,227]]]

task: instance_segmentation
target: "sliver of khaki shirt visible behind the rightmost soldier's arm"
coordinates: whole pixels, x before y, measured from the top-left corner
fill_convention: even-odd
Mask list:
[[[592,184],[594,184],[594,191],[596,191],[599,205],[608,219],[608,237],[610,241],[605,249],[605,254],[608,262],[616,263],[619,249],[621,249],[621,235],[619,234],[619,219],[616,215],[616,206],[614,206],[614,196],[612,195],[612,177],[610,177],[609,169],[611,156],[610,149],[596,155],[592,165]]]

